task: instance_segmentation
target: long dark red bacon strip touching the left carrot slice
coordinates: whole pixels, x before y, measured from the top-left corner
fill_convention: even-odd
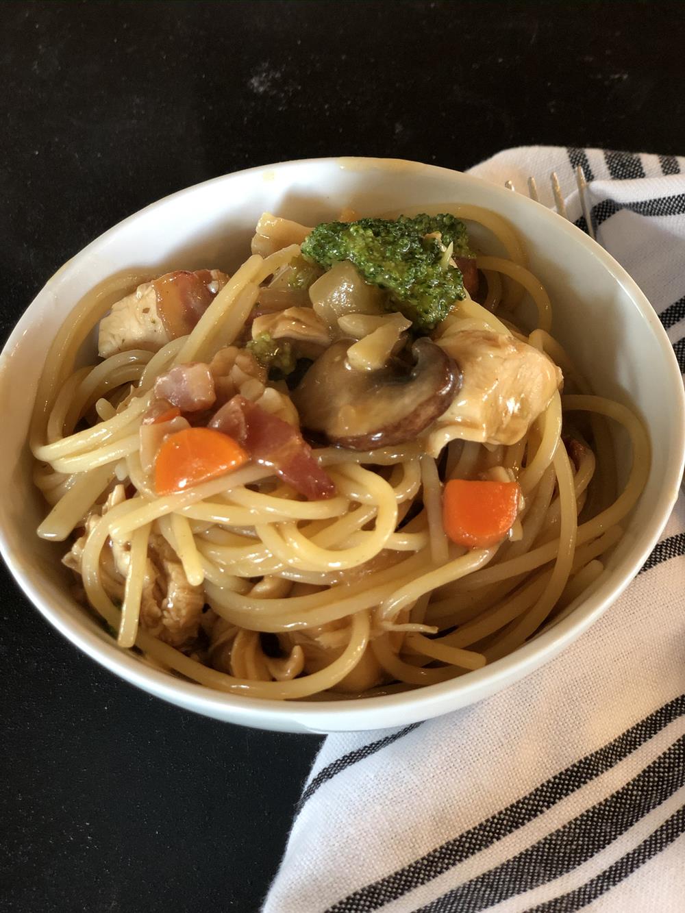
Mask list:
[[[249,456],[273,467],[284,482],[309,500],[332,498],[332,478],[316,462],[297,428],[270,415],[244,396],[234,396],[209,423],[245,447]]]

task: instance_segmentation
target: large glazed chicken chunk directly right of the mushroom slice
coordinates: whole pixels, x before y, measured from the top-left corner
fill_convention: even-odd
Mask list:
[[[463,375],[461,389],[437,425],[459,425],[459,436],[467,441],[520,441],[563,382],[551,359],[513,336],[464,330],[437,344]]]

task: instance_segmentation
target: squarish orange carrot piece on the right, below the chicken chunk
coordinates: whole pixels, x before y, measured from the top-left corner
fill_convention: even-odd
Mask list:
[[[519,509],[516,482],[455,478],[445,486],[442,521],[448,537],[468,549],[486,549],[511,530]]]

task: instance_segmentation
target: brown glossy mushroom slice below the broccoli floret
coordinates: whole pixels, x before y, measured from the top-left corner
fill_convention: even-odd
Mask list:
[[[410,370],[355,371],[349,341],[336,342],[312,364],[292,398],[302,425],[351,450],[403,444],[442,415],[461,383],[458,367],[428,339],[412,347]]]

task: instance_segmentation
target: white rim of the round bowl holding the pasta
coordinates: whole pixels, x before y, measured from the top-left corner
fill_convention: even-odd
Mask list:
[[[3,351],[0,352],[0,388],[5,383],[5,369],[8,367],[12,352],[34,323],[34,311],[40,310],[44,306],[43,301],[47,299],[53,283],[68,277],[71,270],[78,269],[79,261],[82,258],[88,257],[98,248],[105,246],[112,236],[125,230],[126,226],[143,214],[149,213],[156,208],[162,208],[163,205],[171,201],[191,196],[200,188],[213,184],[222,184],[249,173],[275,173],[280,169],[293,165],[300,168],[328,165],[342,169],[416,170],[422,173],[434,173],[448,181],[457,179],[458,182],[465,182],[471,186],[485,184],[488,186],[490,193],[494,192],[496,195],[511,194],[511,191],[504,187],[500,188],[490,181],[439,165],[412,162],[404,159],[364,156],[295,159],[287,162],[257,165],[237,172],[218,175],[198,184],[185,187],[144,206],[132,215],[122,219],[116,225],[111,226],[107,231],[90,241],[77,254],[70,257],[51,278],[47,279],[45,285],[37,292],[36,297],[17,321],[14,330],[5,342]],[[311,731],[381,729],[400,725],[401,721],[414,722],[418,719],[430,719],[441,713],[448,712],[450,708],[446,708],[445,703],[449,696],[459,696],[458,700],[454,701],[453,708],[466,706],[474,699],[478,699],[478,692],[482,690],[481,686],[484,682],[488,683],[487,694],[492,694],[499,687],[505,685],[507,681],[522,678],[535,668],[543,665],[548,659],[560,652],[565,645],[573,642],[576,637],[582,634],[606,611],[609,604],[615,602],[618,596],[625,591],[648,557],[649,552],[659,540],[659,535],[669,519],[670,512],[678,498],[680,478],[683,473],[683,467],[685,467],[685,391],[683,391],[680,367],[666,331],[663,329],[656,311],[649,304],[647,297],[638,288],[637,283],[630,278],[626,270],[603,247],[596,244],[589,236],[585,235],[585,232],[562,216],[527,197],[519,196],[518,194],[517,196],[518,204],[524,208],[529,207],[531,214],[533,214],[532,207],[536,207],[534,218],[543,220],[543,222],[551,220],[556,230],[561,230],[576,245],[584,247],[588,255],[598,259],[610,276],[624,289],[628,298],[637,307],[642,319],[647,322],[657,338],[666,362],[665,370],[669,373],[670,385],[675,391],[675,396],[670,401],[670,411],[676,419],[680,419],[680,426],[675,430],[680,457],[673,459],[669,464],[671,467],[669,469],[669,477],[664,479],[664,485],[660,491],[657,504],[652,511],[652,519],[648,529],[638,534],[636,541],[631,546],[629,555],[624,558],[620,568],[612,569],[610,573],[606,574],[606,580],[600,582],[595,591],[586,600],[582,600],[579,597],[580,601],[574,606],[573,611],[558,623],[553,624],[543,634],[522,645],[513,653],[502,657],[489,666],[470,672],[468,676],[382,697],[280,701],[225,693],[182,678],[174,678],[162,670],[146,666],[138,658],[132,656],[130,652],[122,651],[113,641],[105,640],[92,630],[90,625],[85,624],[88,616],[84,615],[84,622],[80,623],[79,620],[71,618],[65,610],[50,603],[46,595],[41,593],[40,584],[23,570],[21,550],[16,549],[9,540],[5,530],[5,523],[0,523],[0,554],[2,554],[7,567],[30,602],[37,607],[38,611],[43,614],[50,624],[57,628],[60,634],[67,637],[71,643],[77,645],[80,650],[96,660],[101,666],[105,666],[132,685],[152,692],[159,698],[216,719],[226,719],[238,724],[258,726],[260,724],[269,725],[269,722],[278,724],[291,720]],[[503,199],[504,197],[502,196],[501,198]],[[540,656],[544,656],[542,664],[538,661]],[[475,697],[473,696],[474,692],[476,693]],[[434,705],[432,710],[431,705]],[[401,719],[396,712],[399,708],[404,711]],[[387,711],[390,721],[383,721],[384,711]],[[327,728],[325,720],[331,715],[334,715],[336,725],[333,728]],[[354,726],[345,727],[341,725],[343,719],[347,718],[350,719],[351,723],[354,723]],[[323,729],[319,729],[317,726],[323,726]],[[282,728],[285,729],[286,727]]]

